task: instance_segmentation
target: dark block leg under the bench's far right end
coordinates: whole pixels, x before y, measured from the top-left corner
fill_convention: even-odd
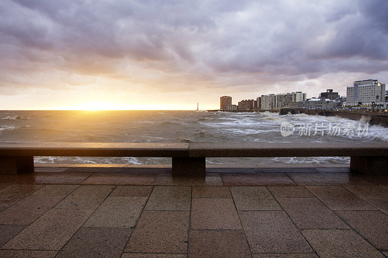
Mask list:
[[[365,174],[388,175],[388,157],[360,156],[350,157],[350,168]]]

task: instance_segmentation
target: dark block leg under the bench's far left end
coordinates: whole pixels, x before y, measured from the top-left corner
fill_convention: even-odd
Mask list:
[[[33,156],[1,156],[0,174],[33,172]]]

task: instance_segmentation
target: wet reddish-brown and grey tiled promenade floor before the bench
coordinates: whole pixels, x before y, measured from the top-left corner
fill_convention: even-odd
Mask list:
[[[330,166],[0,174],[0,257],[384,257],[387,182]]]

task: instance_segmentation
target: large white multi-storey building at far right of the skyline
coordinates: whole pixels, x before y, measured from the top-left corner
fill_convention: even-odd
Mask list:
[[[346,106],[372,106],[374,104],[384,104],[385,84],[377,80],[355,81],[353,86],[347,87]]]

